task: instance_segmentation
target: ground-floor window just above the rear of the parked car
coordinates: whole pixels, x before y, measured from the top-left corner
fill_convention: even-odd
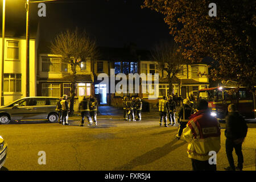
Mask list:
[[[60,97],[60,84],[42,84],[42,96]]]

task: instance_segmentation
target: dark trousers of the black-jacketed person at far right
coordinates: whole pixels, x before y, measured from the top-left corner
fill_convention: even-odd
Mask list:
[[[230,140],[227,138],[226,139],[226,157],[228,158],[229,166],[232,169],[236,169],[236,167],[234,166],[234,159],[233,159],[233,155],[232,155],[233,148],[235,149],[236,154],[237,154],[237,160],[238,160],[237,167],[242,170],[242,168],[243,168],[242,143],[235,144],[233,142],[233,140]]]

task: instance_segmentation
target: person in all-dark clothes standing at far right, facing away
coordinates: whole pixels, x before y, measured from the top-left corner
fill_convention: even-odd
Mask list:
[[[242,143],[247,134],[247,125],[245,119],[236,111],[236,105],[230,104],[228,106],[228,115],[225,118],[226,121],[226,156],[228,158],[229,167],[224,168],[228,171],[235,171],[233,159],[233,148],[236,151],[238,164],[237,169],[242,171],[243,168],[243,154]]]

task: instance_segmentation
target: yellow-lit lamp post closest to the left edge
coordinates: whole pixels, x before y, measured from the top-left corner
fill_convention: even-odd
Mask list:
[[[2,24],[2,67],[1,67],[1,106],[4,104],[3,100],[3,72],[5,65],[5,0],[3,0],[3,24]]]

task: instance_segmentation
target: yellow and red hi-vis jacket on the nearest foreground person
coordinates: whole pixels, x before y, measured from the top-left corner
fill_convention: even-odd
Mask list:
[[[196,160],[209,160],[212,155],[220,151],[220,123],[210,115],[209,110],[200,110],[192,114],[187,127],[183,130],[181,138],[188,143],[188,158]]]

